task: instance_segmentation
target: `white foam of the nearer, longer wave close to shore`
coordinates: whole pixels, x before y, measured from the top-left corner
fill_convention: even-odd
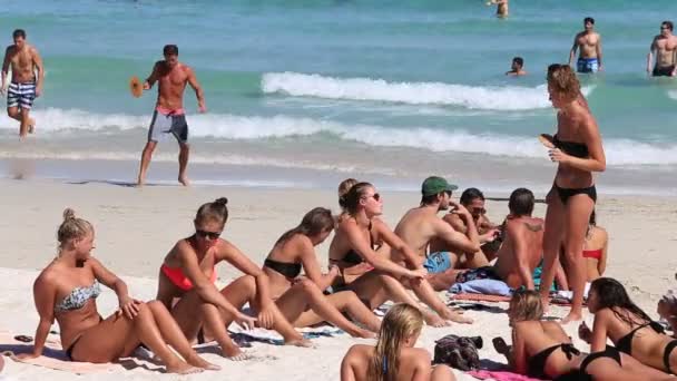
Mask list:
[[[60,109],[36,111],[36,117],[40,120],[38,134],[68,134],[71,138],[72,136],[76,136],[73,133],[79,130],[96,130],[99,135],[120,134],[125,130],[135,128],[140,131],[141,129],[147,128],[149,121],[149,117],[99,115],[80,110]],[[245,117],[206,114],[192,115],[188,118],[188,123],[190,125],[192,137],[208,138],[216,141],[242,139],[259,140],[272,138],[293,139],[296,137],[324,134],[325,136],[328,136],[327,144],[331,144],[331,139],[335,139],[364,144],[372,147],[403,147],[439,153],[468,153],[526,158],[547,157],[546,148],[542,147],[533,136],[477,134],[463,129],[444,130],[415,126],[404,128],[375,125],[346,125],[330,120],[292,118],[286,116]],[[12,126],[9,123],[0,123],[0,125],[6,126],[6,128]],[[13,135],[9,134],[7,136],[13,137]],[[118,155],[109,153],[112,147],[106,145],[106,139],[92,138],[91,135],[87,136],[87,134],[82,134],[81,138],[92,139],[94,146],[88,147],[91,148],[91,150],[101,153],[96,157],[111,159],[112,157],[106,155]],[[96,145],[99,145],[99,147]],[[605,140],[605,150],[609,165],[677,164],[677,145],[674,144],[650,144],[630,139],[607,139]],[[73,158],[77,158],[75,156],[80,155],[80,152],[73,152],[72,155]],[[138,159],[138,153],[136,153],[136,150],[130,155],[134,156],[134,159]],[[258,159],[263,160],[263,156],[256,160]],[[233,163],[233,160],[237,162],[234,157],[218,159],[220,163]],[[253,163],[247,162],[246,164]]]

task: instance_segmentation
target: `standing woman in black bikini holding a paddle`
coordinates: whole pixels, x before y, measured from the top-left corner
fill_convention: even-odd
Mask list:
[[[548,193],[548,212],[543,236],[543,275],[541,299],[555,279],[559,248],[563,245],[569,264],[569,286],[573,291],[571,311],[562,322],[582,319],[586,268],[583,242],[590,213],[597,201],[593,172],[606,169],[601,136],[590,110],[581,101],[580,84],[568,65],[550,65],[548,92],[557,114],[557,134],[550,159],[559,164],[552,189]],[[547,305],[547,304],[544,304]]]

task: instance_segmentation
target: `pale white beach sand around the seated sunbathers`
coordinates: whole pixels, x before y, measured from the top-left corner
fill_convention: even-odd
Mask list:
[[[230,219],[225,236],[262,263],[272,244],[285,229],[295,226],[303,214],[314,206],[336,209],[333,190],[253,189],[225,187],[146,187],[144,189],[106,184],[71,185],[49,180],[0,180],[0,252],[2,290],[0,294],[0,330],[33,335],[38,321],[31,284],[56,254],[56,228],[61,212],[70,206],[95,224],[97,248],[95,255],[129,284],[135,297],[149,300],[155,295],[158,266],[167,250],[179,238],[192,233],[196,208],[219,196],[230,201]],[[382,193],[383,194],[383,193]],[[414,193],[385,193],[384,218],[394,226],[398,218],[419,202]],[[507,195],[499,195],[507,196]],[[659,295],[675,283],[677,258],[677,207],[671,198],[608,198],[598,204],[600,225],[610,233],[607,275],[619,279],[646,311],[656,316]],[[488,203],[490,217],[501,221],[507,213],[503,202]],[[538,205],[536,215],[542,216],[544,206]],[[328,242],[328,240],[327,240]],[[317,252],[326,263],[327,244]],[[17,270],[21,268],[21,270]],[[236,275],[227,265],[218,268],[219,277]],[[105,292],[98,300],[104,315],[117,305],[114,293]],[[504,309],[506,304],[499,304]],[[562,315],[565,310],[555,309]],[[447,329],[425,328],[419,345],[432,351],[434,340],[449,333],[481,335],[484,349],[482,359],[504,362],[491,345],[491,339],[501,335],[510,341],[504,313],[469,311],[473,325],[454,325]],[[590,318],[588,316],[588,322]],[[57,326],[55,325],[55,329]],[[566,328],[576,338],[576,325]],[[115,367],[110,373],[81,377],[91,380],[119,379],[227,379],[227,380],[337,380],[341,359],[353,343],[369,342],[350,336],[314,340],[316,349],[298,349],[254,344],[258,360],[233,363],[215,354],[209,361],[223,365],[219,373],[206,372],[186,378],[143,369],[125,370]],[[580,349],[588,348],[577,341]],[[7,361],[3,377],[21,380],[66,380],[73,374],[51,371]],[[472,380],[462,377],[461,380]]]

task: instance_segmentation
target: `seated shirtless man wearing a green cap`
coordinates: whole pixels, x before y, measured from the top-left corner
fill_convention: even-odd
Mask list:
[[[430,281],[435,274],[443,273],[453,265],[451,254],[448,252],[428,255],[431,241],[440,240],[452,247],[458,247],[465,253],[480,251],[478,231],[468,209],[451,199],[453,190],[458,186],[449,184],[447,179],[438,176],[428,177],[421,186],[421,204],[406,212],[395,227],[395,234],[400,236],[411,250],[419,255],[416,261],[423,262],[430,274]],[[453,207],[453,213],[463,218],[468,225],[468,234],[454,231],[451,225],[438,216],[440,211]],[[393,252],[393,261],[400,261],[401,253]]]

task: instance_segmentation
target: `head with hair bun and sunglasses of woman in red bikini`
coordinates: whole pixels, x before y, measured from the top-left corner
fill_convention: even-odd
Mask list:
[[[218,237],[228,221],[228,198],[220,197],[203,204],[195,214],[195,237],[200,248],[208,248],[218,242]]]

